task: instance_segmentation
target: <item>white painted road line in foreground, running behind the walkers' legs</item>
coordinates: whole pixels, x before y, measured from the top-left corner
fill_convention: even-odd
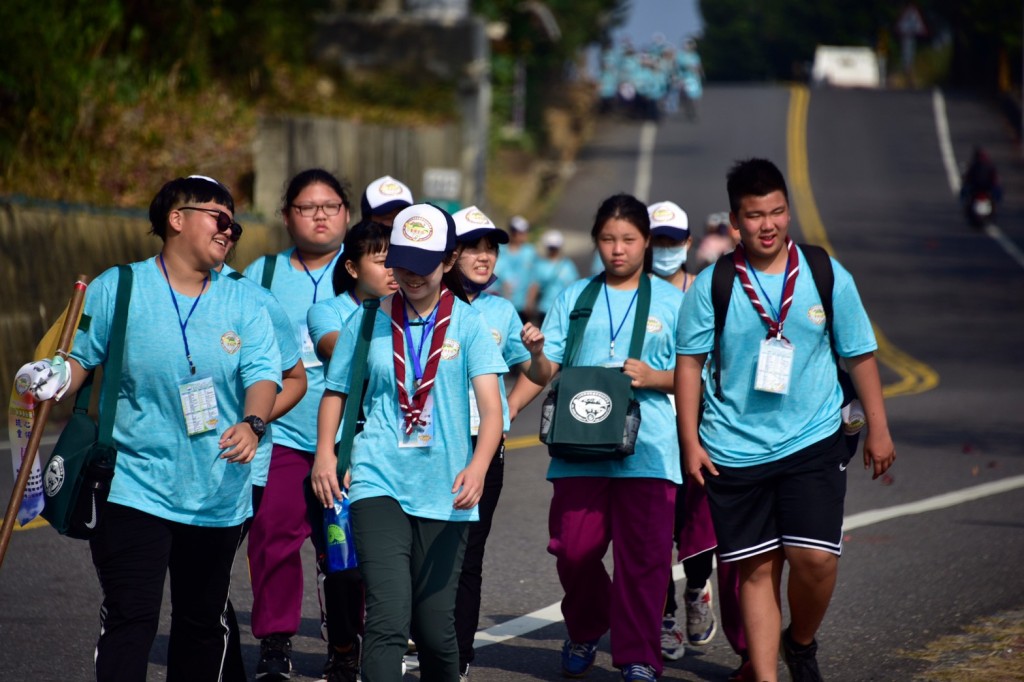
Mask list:
[[[1001,493],[1009,493],[1010,491],[1015,491],[1021,487],[1024,487],[1024,476],[1012,476],[1010,478],[1002,478],[990,483],[981,483],[980,485],[966,487],[961,491],[937,495],[933,498],[919,500],[918,502],[909,502],[907,504],[896,505],[894,507],[886,507],[885,509],[874,509],[866,512],[860,512],[859,514],[847,516],[843,520],[843,530],[854,530],[856,528],[863,528],[864,526],[872,525],[874,523],[891,521],[903,516],[911,516],[913,514],[924,514],[927,512],[938,511],[940,509],[948,509],[949,507],[955,507],[956,505],[973,502],[975,500],[991,497],[993,495],[999,495]],[[673,566],[672,578],[675,581],[683,579],[683,566],[681,563],[677,562]],[[561,623],[561,604],[560,602],[556,602],[550,606],[545,606],[540,610],[536,610],[532,613],[520,615],[517,619],[512,619],[511,621],[501,623],[492,628],[487,628],[486,630],[481,630],[476,633],[476,638],[473,640],[473,646],[480,648],[481,646],[487,646],[489,644],[499,644],[506,640],[534,632],[535,630],[540,630],[541,628]]]

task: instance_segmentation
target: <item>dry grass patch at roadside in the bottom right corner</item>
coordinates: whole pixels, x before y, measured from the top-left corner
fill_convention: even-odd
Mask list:
[[[906,655],[929,665],[915,680],[1010,682],[1024,680],[1024,610],[980,620],[958,635],[930,642]]]

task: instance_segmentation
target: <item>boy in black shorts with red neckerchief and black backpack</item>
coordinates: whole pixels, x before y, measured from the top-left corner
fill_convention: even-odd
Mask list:
[[[715,348],[712,289],[722,261],[686,295],[676,342],[684,466],[707,489],[720,560],[739,566],[745,673],[775,679],[782,632],[793,678],[819,680],[815,634],[836,585],[853,455],[842,437],[843,390],[829,336],[864,408],[863,462],[876,477],[896,458],[877,344],[853,279],[835,260],[826,319],[807,258],[788,236],[788,191],[778,168],[765,159],[738,162],[726,186],[740,243],[724,256],[735,276],[710,381],[701,373]],[[791,623],[783,632],[778,595],[786,563]]]

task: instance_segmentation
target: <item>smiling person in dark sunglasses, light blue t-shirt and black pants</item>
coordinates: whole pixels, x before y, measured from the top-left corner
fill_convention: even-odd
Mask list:
[[[214,269],[242,235],[233,209],[216,180],[171,180],[150,206],[163,248],[131,264],[120,385],[105,389],[118,395],[118,457],[89,541],[103,593],[95,655],[102,682],[146,678],[168,572],[168,676],[221,675],[231,563],[252,513],[251,462],[281,381],[263,302]],[[51,373],[63,386],[58,395],[110,360],[118,280],[112,268],[89,286],[89,324]]]

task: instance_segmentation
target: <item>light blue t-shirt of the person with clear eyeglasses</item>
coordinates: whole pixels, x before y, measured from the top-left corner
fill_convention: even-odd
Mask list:
[[[302,364],[306,368],[306,394],[288,414],[276,420],[273,442],[305,453],[313,453],[316,451],[316,413],[319,410],[321,397],[324,395],[324,369],[309,337],[306,312],[316,301],[334,298],[332,280],[338,256],[336,255],[328,265],[306,273],[301,266],[292,265],[291,258],[294,251],[294,248],[286,249],[276,255],[270,292],[281,301],[289,319],[292,321],[302,351]],[[257,258],[245,269],[246,276],[257,284],[262,283],[263,260]]]

